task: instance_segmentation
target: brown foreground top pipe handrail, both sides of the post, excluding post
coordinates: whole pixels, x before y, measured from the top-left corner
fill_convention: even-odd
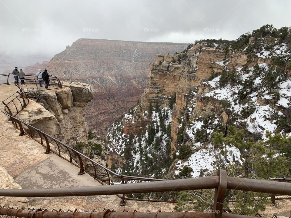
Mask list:
[[[7,189],[0,190],[5,197],[68,197],[92,195],[116,195],[152,193],[167,191],[185,191],[219,188],[220,176],[199,177],[189,179],[164,180],[150,183],[127,183],[109,186],[67,187],[49,189]],[[291,184],[268,180],[226,177],[226,188],[232,190],[251,191],[270,194],[291,195]]]

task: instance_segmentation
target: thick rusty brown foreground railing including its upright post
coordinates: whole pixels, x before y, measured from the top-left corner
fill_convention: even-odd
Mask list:
[[[0,190],[0,196],[8,197],[67,197],[67,196],[92,196],[92,195],[115,195],[128,193],[151,193],[151,192],[166,192],[166,191],[185,191],[185,190],[202,190],[215,189],[212,210],[208,213],[196,212],[199,217],[249,217],[236,214],[223,213],[223,203],[226,197],[227,189],[251,191],[260,193],[275,193],[291,195],[291,184],[268,180],[245,179],[238,177],[228,177],[226,170],[219,170],[217,176],[189,178],[178,180],[164,180],[149,183],[130,183],[110,186],[90,186],[90,187],[67,187],[67,188],[51,188],[51,189],[14,189]],[[13,216],[18,216],[18,212],[14,211]],[[1,211],[2,214],[9,214],[8,210]],[[108,211],[109,213],[109,211]],[[182,212],[183,213],[183,212]],[[169,215],[169,213],[167,213]],[[179,217],[179,212],[174,213]],[[26,214],[28,215],[28,214]],[[31,214],[32,215],[32,214]],[[51,214],[52,216],[53,214]],[[55,217],[57,214],[54,214]],[[66,217],[67,214],[63,214]],[[74,215],[74,214],[70,214]],[[83,214],[85,216],[85,214]],[[88,214],[89,215],[89,214]],[[117,214],[116,214],[117,215]],[[135,217],[147,217],[145,214]],[[185,212],[184,212],[185,215]],[[195,213],[192,214],[195,216]],[[23,216],[19,217],[25,217]],[[26,216],[29,217],[29,216]],[[31,216],[32,217],[32,216]],[[47,216],[50,217],[50,216]],[[99,216],[97,216],[99,217]],[[101,217],[109,217],[104,216]],[[121,215],[111,217],[123,217]],[[127,216],[125,216],[127,217]],[[150,216],[151,217],[151,216]],[[164,216],[161,216],[164,217]],[[172,217],[172,216],[168,216]]]

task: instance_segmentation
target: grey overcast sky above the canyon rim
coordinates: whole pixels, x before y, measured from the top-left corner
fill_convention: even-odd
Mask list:
[[[0,0],[0,17],[0,61],[25,66],[78,38],[192,43],[290,26],[291,1]]]

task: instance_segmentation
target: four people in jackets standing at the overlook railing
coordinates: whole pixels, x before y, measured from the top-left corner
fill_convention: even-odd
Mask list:
[[[20,79],[21,81],[21,86],[25,85],[25,81],[24,81],[24,76],[25,73],[22,71],[22,69],[20,69],[20,71],[18,71],[18,68],[15,67],[15,69],[13,69],[12,74],[14,76],[14,83],[18,85],[18,81]],[[45,82],[45,88],[47,89],[49,86],[49,73],[48,71],[45,69],[45,71],[41,72],[40,69],[38,69],[37,73],[35,74],[37,79],[38,79],[38,83],[40,87],[43,87],[43,81]]]

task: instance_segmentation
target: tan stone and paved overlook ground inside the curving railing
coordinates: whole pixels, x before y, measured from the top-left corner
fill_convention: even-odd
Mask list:
[[[14,85],[0,86],[0,100],[3,101],[16,91]],[[28,104],[29,109],[29,104]],[[20,112],[21,113],[21,112]],[[45,148],[27,135],[19,136],[8,118],[0,113],[0,189],[36,189],[99,186],[99,182],[88,174],[79,176],[79,168],[56,156],[44,154]],[[127,201],[126,206],[119,206],[120,198],[115,195],[84,197],[0,197],[1,206],[46,208],[52,210],[93,210],[104,208],[138,210],[152,212],[162,210],[170,212],[174,204]]]

